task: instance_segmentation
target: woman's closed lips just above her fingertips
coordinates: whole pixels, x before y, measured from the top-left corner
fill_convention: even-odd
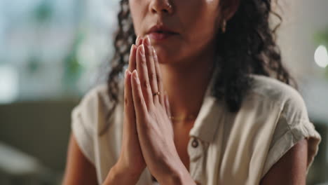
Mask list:
[[[170,36],[174,36],[177,32],[174,32],[172,29],[165,27],[164,25],[155,25],[149,29],[147,32],[151,39],[156,41],[162,41],[164,39],[168,39]]]

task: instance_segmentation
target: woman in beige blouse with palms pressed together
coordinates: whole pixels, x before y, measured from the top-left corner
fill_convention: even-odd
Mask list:
[[[321,137],[270,13],[271,0],[122,0],[109,81],[72,112],[64,184],[306,184]]]

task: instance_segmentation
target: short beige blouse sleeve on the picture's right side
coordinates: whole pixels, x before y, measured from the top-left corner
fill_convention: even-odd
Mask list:
[[[315,130],[313,123],[309,121],[308,111],[301,95],[294,89],[292,92],[289,90],[287,95],[273,133],[262,178],[292,146],[304,138],[308,139],[306,167],[306,174],[308,174],[321,142],[320,134]]]

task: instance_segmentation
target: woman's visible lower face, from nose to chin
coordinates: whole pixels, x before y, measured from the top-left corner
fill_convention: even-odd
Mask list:
[[[159,61],[177,62],[203,53],[220,28],[220,0],[129,0],[135,34],[151,37]],[[168,6],[168,3],[171,6]],[[162,25],[176,34],[151,32]],[[156,39],[157,37],[157,39]]]

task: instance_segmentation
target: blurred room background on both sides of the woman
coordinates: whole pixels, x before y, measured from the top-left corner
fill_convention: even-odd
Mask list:
[[[281,1],[278,43],[322,136],[328,184],[328,1]],[[107,78],[118,0],[0,1],[0,184],[60,184],[71,109]]]

